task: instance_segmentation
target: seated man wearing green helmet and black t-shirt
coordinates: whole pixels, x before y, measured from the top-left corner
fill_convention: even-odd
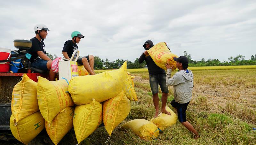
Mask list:
[[[65,58],[70,59],[73,52],[78,49],[78,46],[76,43],[79,43],[81,38],[84,38],[84,36],[78,32],[74,31],[71,34],[71,40],[68,40],[65,42],[62,54]],[[84,65],[84,68],[89,72],[91,75],[94,75],[93,71],[93,65],[94,65],[94,56],[93,55],[87,55],[85,57],[81,57],[77,59],[77,65]]]

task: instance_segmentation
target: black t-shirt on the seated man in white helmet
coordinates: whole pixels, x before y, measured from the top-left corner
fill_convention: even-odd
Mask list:
[[[29,59],[30,62],[33,62],[37,57],[37,51],[43,51],[44,54],[46,55],[46,51],[44,49],[44,42],[43,41],[39,41],[36,37],[31,38],[30,41],[32,42],[32,46],[30,49],[30,53],[31,53],[31,58]]]

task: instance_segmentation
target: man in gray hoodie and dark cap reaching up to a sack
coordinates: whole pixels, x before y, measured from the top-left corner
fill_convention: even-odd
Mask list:
[[[193,73],[188,69],[188,58],[185,56],[180,56],[179,58],[173,57],[176,61],[176,67],[179,72],[176,72],[171,78],[172,67],[169,64],[165,64],[167,68],[166,73],[166,86],[173,86],[174,99],[171,102],[173,108],[177,110],[179,121],[184,125],[189,131],[191,131],[195,138],[199,138],[198,133],[195,128],[186,119],[186,110],[189,101],[192,98],[193,89]]]

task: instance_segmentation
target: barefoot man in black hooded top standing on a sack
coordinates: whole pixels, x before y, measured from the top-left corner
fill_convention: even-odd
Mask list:
[[[166,44],[166,43],[165,43]],[[148,66],[148,73],[149,73],[149,84],[150,88],[153,94],[153,103],[156,109],[156,113],[154,115],[154,118],[158,116],[159,108],[159,98],[158,98],[158,84],[160,85],[161,91],[162,91],[162,109],[161,112],[171,115],[170,112],[166,111],[165,106],[167,103],[167,96],[168,96],[168,88],[166,87],[165,83],[165,71],[164,69],[158,67],[156,63],[153,61],[153,59],[148,55],[148,51],[151,47],[153,47],[154,44],[151,40],[148,40],[144,43],[143,47],[146,51],[144,51],[140,58],[139,63],[143,63],[143,61],[146,61],[146,64]]]

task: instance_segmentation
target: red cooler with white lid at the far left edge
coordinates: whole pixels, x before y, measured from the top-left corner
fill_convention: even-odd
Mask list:
[[[0,60],[5,60],[11,56],[11,50],[6,48],[0,48]],[[9,63],[0,63],[0,72],[9,72]]]

